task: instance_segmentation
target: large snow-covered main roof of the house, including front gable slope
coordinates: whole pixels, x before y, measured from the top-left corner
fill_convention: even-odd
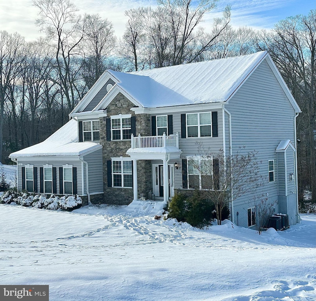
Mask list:
[[[143,107],[226,101],[267,55],[266,51],[131,73],[108,70]]]

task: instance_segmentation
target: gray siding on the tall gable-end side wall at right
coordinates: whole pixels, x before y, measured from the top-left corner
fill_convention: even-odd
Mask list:
[[[263,61],[225,108],[232,115],[232,149],[246,146],[245,152],[257,150],[260,172],[266,178],[259,193],[269,193],[269,199],[278,195],[277,173],[275,181],[268,182],[268,160],[274,160],[276,147],[281,140],[290,139],[294,144],[295,111],[276,80],[269,65]],[[234,200],[234,206],[247,202],[252,195]]]

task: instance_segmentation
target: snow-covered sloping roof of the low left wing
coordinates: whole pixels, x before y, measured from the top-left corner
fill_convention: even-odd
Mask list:
[[[18,150],[10,158],[33,156],[80,156],[102,146],[95,142],[78,143],[78,124],[71,119],[45,141]]]

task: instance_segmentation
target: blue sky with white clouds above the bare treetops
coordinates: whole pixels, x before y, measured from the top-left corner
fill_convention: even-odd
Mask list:
[[[121,36],[127,18],[124,11],[138,6],[156,6],[155,0],[73,0],[80,13],[99,13],[114,24],[115,33]],[[210,28],[214,17],[221,16],[227,4],[232,5],[231,25],[248,26],[255,29],[271,29],[287,16],[307,15],[316,8],[316,0],[220,0],[217,8],[205,15],[204,28]],[[24,35],[28,41],[40,34],[34,25],[37,9],[32,0],[0,0],[0,29]]]

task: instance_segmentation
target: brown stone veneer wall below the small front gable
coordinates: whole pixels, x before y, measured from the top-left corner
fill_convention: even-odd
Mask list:
[[[100,144],[103,145],[103,202],[106,204],[128,205],[133,200],[132,188],[107,187],[107,160],[111,157],[129,157],[126,151],[131,147],[131,140],[106,141],[106,118],[119,114],[131,114],[136,117],[136,135],[150,136],[149,114],[134,114],[130,109],[131,103],[123,94],[119,93],[106,107],[107,117],[100,118]],[[137,161],[138,195],[141,192],[148,195],[152,190],[151,162],[150,160]]]

